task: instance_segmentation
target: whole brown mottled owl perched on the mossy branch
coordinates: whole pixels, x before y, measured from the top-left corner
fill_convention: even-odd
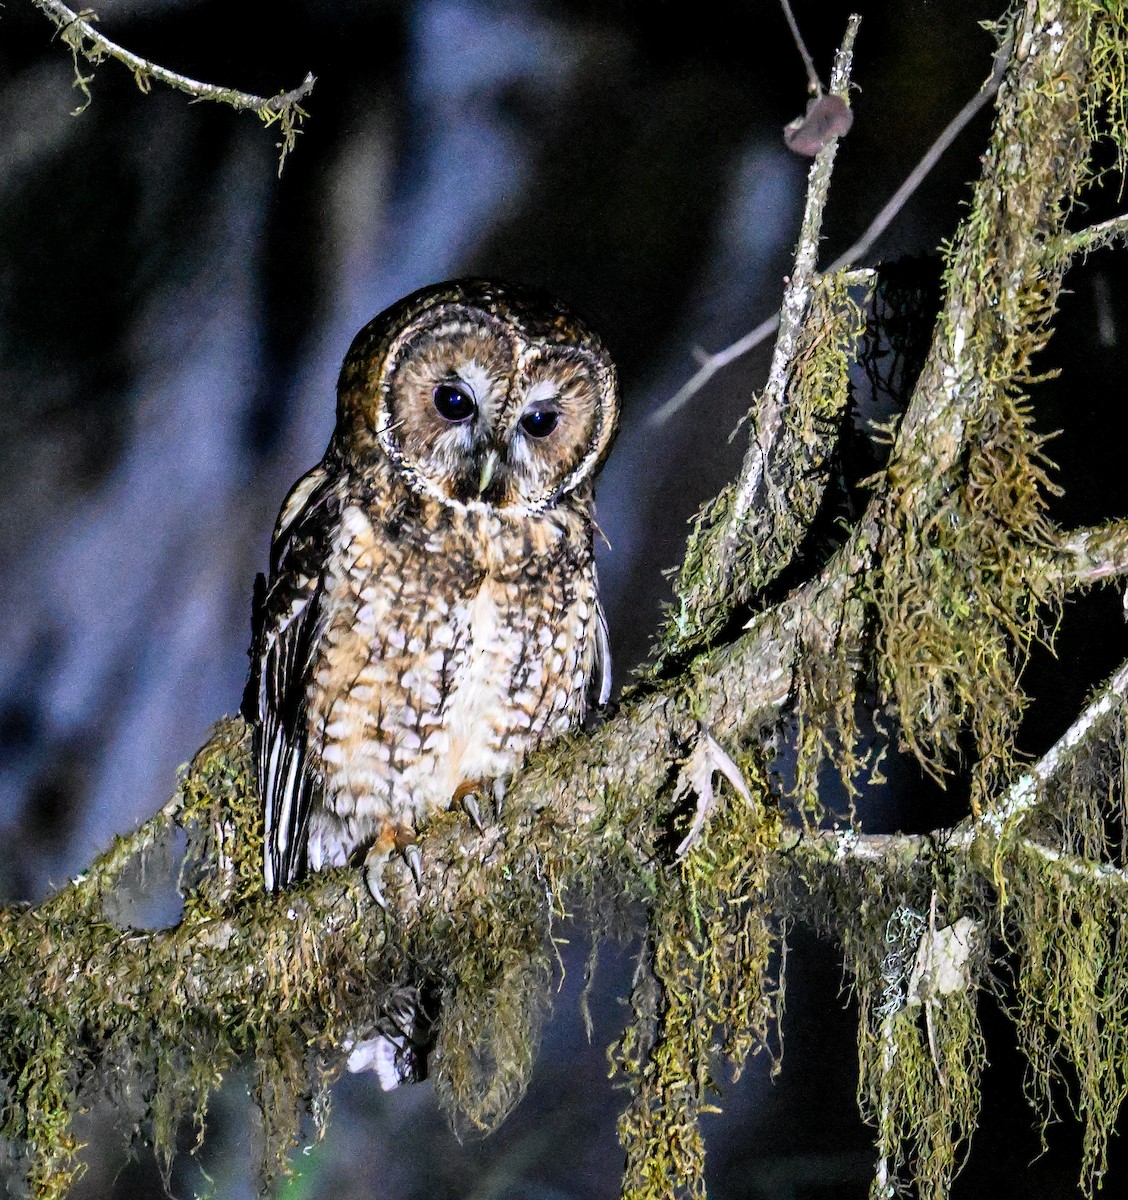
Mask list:
[[[268,889],[402,853],[606,703],[593,481],[618,386],[563,306],[481,280],[356,335],[324,458],[278,515],[245,707]]]

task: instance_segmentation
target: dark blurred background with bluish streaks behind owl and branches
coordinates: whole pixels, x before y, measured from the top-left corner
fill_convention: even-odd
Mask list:
[[[856,122],[840,152],[824,260],[848,246],[990,71],[980,28],[1001,4],[797,0],[820,72],[851,7],[864,16]],[[319,456],[355,330],[424,283],[494,275],[559,294],[616,355],[625,416],[599,490],[600,570],[618,679],[641,661],[685,521],[733,475],[727,438],[770,346],[661,427],[694,370],[778,305],[806,161],[781,126],[805,76],[774,2],[594,0],[104,0],[101,29],[196,78],[270,95],[318,77],[277,178],[275,134],[248,114],[101,66],[80,116],[70,54],[30,0],[0,12],[0,893],[37,899],[170,794],[178,764],[239,703],[253,575],[290,482]],[[85,71],[84,66],[84,71]],[[932,254],[964,211],[988,115],[965,131],[869,262]],[[1115,211],[1097,196],[1087,217]],[[1108,211],[1105,211],[1108,209]],[[910,275],[912,274],[910,269]],[[1072,272],[1036,396],[1063,428],[1064,522],[1123,516],[1123,260]],[[920,277],[935,277],[924,262]],[[926,282],[920,284],[928,294]],[[858,431],[864,433],[864,431]],[[1074,605],[1039,655],[1030,749],[1062,732],[1126,653],[1115,594]],[[863,816],[930,828],[959,815],[905,763]],[[568,973],[529,1096],[493,1138],[460,1146],[427,1085],[335,1090],[328,1139],[295,1154],[294,1198],[618,1194],[604,1048],[624,1020],[631,946],[604,955],[589,1045]],[[787,1056],[754,1064],[709,1118],[716,1200],[866,1194],[854,1014],[832,947],[792,934]],[[1074,1195],[1076,1132],[1038,1142],[1021,1066],[985,1004],[992,1067],[956,1195]],[[181,1156],[180,1196],[253,1194],[246,1081]],[[158,1195],[126,1163],[113,1114],[84,1126],[76,1195]],[[191,1145],[191,1140],[188,1141]],[[1123,1183],[1114,1151],[1110,1184]]]

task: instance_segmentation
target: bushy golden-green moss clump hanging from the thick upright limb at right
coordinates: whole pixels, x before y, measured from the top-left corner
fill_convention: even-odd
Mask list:
[[[1019,676],[1031,643],[1049,637],[1044,606],[1057,600],[1032,578],[1051,545],[1040,439],[1009,390],[968,421],[968,449],[950,491],[929,514],[916,506],[919,468],[892,468],[886,504],[896,529],[875,580],[880,672],[901,737],[934,775],[974,742],[973,803],[995,794],[1013,770],[1026,704]]]

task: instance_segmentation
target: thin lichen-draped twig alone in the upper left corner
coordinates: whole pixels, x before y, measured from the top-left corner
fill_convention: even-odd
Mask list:
[[[132,50],[110,41],[98,32],[95,26],[95,22],[98,19],[97,13],[90,8],[74,12],[60,0],[32,0],[32,4],[50,18],[59,31],[59,37],[71,48],[74,56],[74,85],[85,97],[85,102],[78,112],[82,112],[90,103],[90,82],[94,78],[82,73],[78,66],[79,58],[95,66],[106,59],[115,59],[133,72],[137,86],[142,91],[148,91],[156,82],[166,88],[186,92],[194,100],[229,104],[236,112],[252,112],[268,126],[277,122],[281,134],[278,142],[278,173],[281,174],[286,156],[294,148],[302,118],[307,115],[301,102],[310,95],[317,82],[312,74],[306,74],[305,79],[293,90],[282,91],[274,96],[254,96],[235,88],[202,83],[199,79],[191,79],[176,71],[169,71],[168,67],[162,67],[158,62],[143,59],[139,54],[133,54]]]

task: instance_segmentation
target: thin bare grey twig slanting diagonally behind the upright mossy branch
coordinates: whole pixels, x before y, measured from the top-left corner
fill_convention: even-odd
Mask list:
[[[876,217],[869,223],[865,233],[846,251],[838,256],[823,271],[824,275],[833,275],[844,266],[850,266],[863,254],[866,254],[874,242],[886,232],[893,218],[901,211],[912,193],[928,178],[929,173],[940,162],[941,156],[959,137],[964,127],[986,104],[986,102],[998,91],[1002,83],[1003,71],[1009,58],[1009,44],[1003,46],[995,56],[995,66],[990,78],[983,88],[956,113],[956,115],[944,126],[940,137],[929,146],[924,156],[908,173],[901,186],[893,193],[888,203],[882,208]],[[743,355],[754,350],[761,342],[766,342],[780,325],[780,314],[773,313],[762,320],[755,329],[737,338],[722,350],[706,355],[697,371],[650,415],[652,425],[661,425],[670,420],[674,413],[685,407],[686,402],[697,395],[698,391],[724,367],[736,361]]]

